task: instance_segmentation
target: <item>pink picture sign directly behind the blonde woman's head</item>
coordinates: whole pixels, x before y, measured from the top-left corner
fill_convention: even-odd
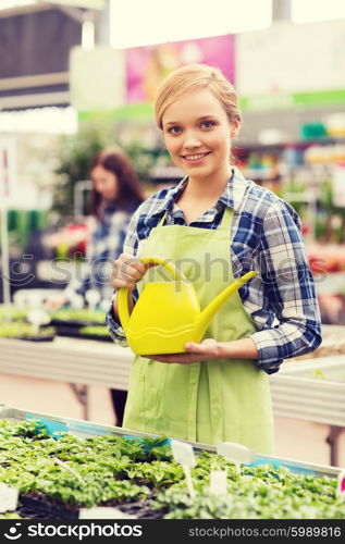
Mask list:
[[[173,70],[194,62],[221,69],[234,83],[235,38],[232,35],[136,47],[125,50],[126,102],[152,102],[161,81]]]

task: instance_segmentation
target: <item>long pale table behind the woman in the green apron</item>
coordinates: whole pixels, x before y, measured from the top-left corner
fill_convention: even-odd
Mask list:
[[[344,342],[338,332],[334,335],[338,343]],[[325,336],[318,350],[321,355],[326,342]],[[0,338],[0,354],[2,373],[69,383],[83,406],[84,419],[88,419],[88,386],[126,391],[134,357],[130,348],[66,337],[39,343]],[[344,364],[345,369],[345,355],[328,359],[332,359],[335,366]],[[326,361],[328,368],[332,361]],[[331,447],[331,465],[336,466],[337,437],[345,428],[345,383],[335,387],[332,382],[307,380],[300,374],[304,370],[311,372],[313,368],[321,369],[324,364],[322,358],[291,360],[270,376],[273,413],[330,425],[326,441]]]

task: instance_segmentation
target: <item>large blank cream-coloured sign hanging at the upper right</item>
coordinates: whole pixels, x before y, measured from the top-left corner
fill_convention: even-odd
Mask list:
[[[280,100],[274,97],[291,96],[300,106],[315,106],[330,103],[343,92],[344,102],[344,21],[278,22],[264,30],[237,35],[239,96],[251,97],[254,109],[263,96],[273,104]]]

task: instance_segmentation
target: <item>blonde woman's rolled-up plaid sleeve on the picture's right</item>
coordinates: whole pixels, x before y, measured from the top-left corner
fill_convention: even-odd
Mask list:
[[[274,202],[263,220],[259,270],[264,299],[276,324],[257,331],[257,364],[268,374],[284,359],[313,351],[321,344],[321,320],[315,282],[300,234],[300,221],[289,206]]]

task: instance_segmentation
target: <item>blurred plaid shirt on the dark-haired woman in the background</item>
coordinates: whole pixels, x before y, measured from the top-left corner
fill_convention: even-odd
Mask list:
[[[122,252],[128,223],[132,213],[116,210],[111,205],[104,210],[102,221],[91,218],[89,239],[87,244],[87,270],[82,277],[74,277],[65,288],[69,297],[71,293],[85,295],[87,289],[96,289],[101,299],[112,296],[113,287],[109,283],[113,260]]]

